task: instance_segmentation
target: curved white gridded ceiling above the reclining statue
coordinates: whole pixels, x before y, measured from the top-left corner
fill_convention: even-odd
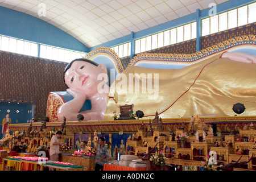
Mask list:
[[[0,0],[0,6],[45,20],[93,47],[225,1]],[[44,7],[46,16],[39,16]]]

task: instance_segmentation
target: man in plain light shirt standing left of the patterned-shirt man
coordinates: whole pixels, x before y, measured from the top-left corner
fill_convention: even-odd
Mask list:
[[[62,132],[57,131],[55,135],[51,138],[49,160],[58,161],[60,154],[60,146],[63,145],[62,142],[59,143],[59,138],[61,138]],[[49,168],[49,171],[53,171],[54,168]]]

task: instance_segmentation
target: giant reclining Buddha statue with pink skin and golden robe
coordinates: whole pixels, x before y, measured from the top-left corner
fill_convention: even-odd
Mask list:
[[[224,117],[234,115],[237,102],[246,106],[246,115],[256,115],[255,63],[256,56],[224,52],[181,69],[133,66],[109,87],[104,64],[76,59],[64,70],[67,91],[74,98],[60,106],[57,116],[59,121],[76,121],[77,114],[84,115],[84,121],[110,121],[120,105],[134,104],[133,110],[142,110],[144,118],[156,110],[161,118]],[[86,100],[91,109],[80,112]]]

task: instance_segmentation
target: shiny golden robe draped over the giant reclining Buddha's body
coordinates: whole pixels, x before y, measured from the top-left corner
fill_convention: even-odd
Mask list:
[[[161,118],[196,114],[233,116],[236,114],[233,105],[238,102],[246,107],[243,115],[256,115],[256,64],[219,57],[216,55],[181,69],[127,68],[122,72],[127,77],[129,73],[158,73],[158,98],[149,100],[150,94],[142,91],[129,93],[128,86],[126,91],[122,90],[116,86],[122,79],[117,78],[110,86],[114,92],[109,93],[104,120],[113,120],[113,111],[118,112],[118,106],[125,104],[134,104],[134,113],[142,110],[145,119],[154,118],[156,111]]]

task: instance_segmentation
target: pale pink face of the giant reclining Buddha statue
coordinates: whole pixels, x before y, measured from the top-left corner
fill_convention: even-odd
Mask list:
[[[101,73],[107,74],[103,64],[96,66],[85,61],[75,61],[65,73],[65,84],[78,92],[95,93],[101,82],[97,79]]]

